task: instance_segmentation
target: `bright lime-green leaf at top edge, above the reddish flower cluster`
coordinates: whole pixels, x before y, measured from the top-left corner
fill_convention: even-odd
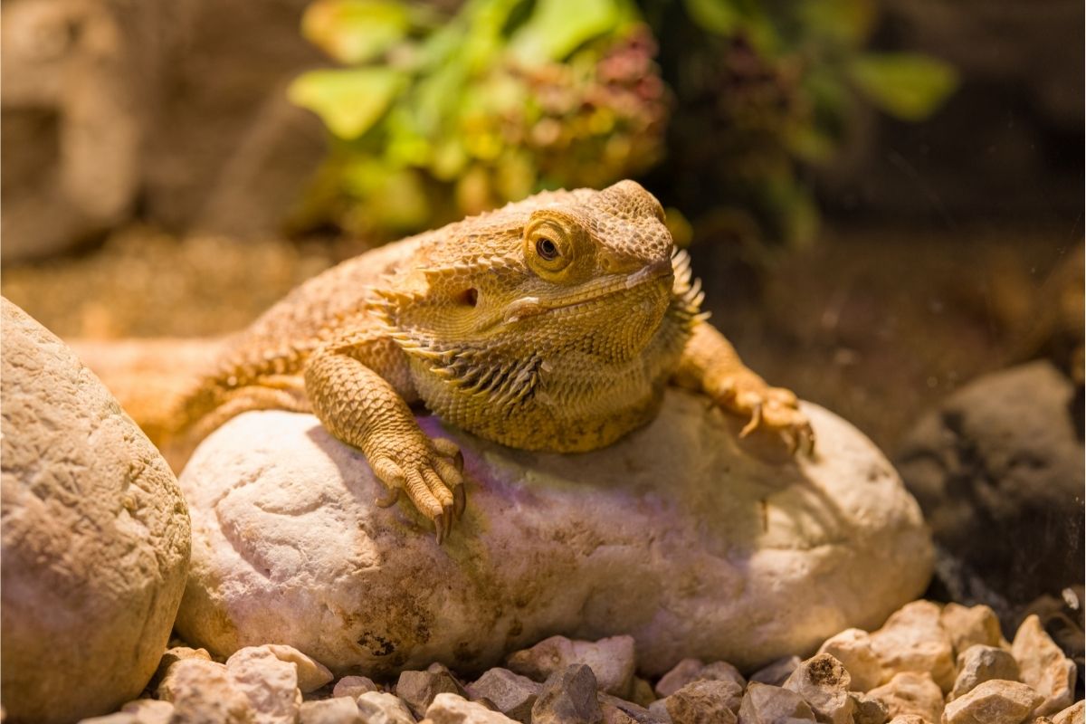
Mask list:
[[[538,0],[531,17],[509,41],[514,56],[534,65],[560,61],[584,42],[617,29],[616,0]]]

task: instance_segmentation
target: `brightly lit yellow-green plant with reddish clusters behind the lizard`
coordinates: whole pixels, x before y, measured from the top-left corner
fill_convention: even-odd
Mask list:
[[[667,98],[629,0],[318,0],[303,34],[345,67],[290,99],[331,135],[302,225],[374,240],[555,187],[604,186],[662,151]]]

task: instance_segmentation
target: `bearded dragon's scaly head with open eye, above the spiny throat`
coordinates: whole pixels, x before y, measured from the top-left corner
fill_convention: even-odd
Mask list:
[[[629,358],[671,301],[664,208],[634,181],[539,193],[419,243],[387,314],[430,350],[560,344]]]

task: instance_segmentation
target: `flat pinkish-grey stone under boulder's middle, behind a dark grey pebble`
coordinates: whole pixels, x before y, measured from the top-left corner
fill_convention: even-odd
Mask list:
[[[601,691],[627,697],[633,684],[634,659],[632,636],[611,636],[598,642],[551,636],[510,655],[506,665],[513,672],[542,682],[556,671],[583,663],[591,666]]]

